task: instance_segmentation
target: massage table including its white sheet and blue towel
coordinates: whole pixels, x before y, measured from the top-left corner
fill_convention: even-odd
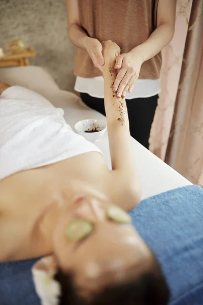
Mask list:
[[[40,67],[0,69],[0,81],[42,94],[64,110],[74,128],[78,120],[105,117],[86,107],[79,96],[60,90]],[[111,168],[107,133],[96,142]],[[168,285],[170,305],[203,304],[203,189],[132,139],[142,181],[142,201],[130,214],[132,224],[156,254]],[[31,277],[36,260],[0,264],[0,304],[40,305]],[[136,305],[136,304],[135,304]]]

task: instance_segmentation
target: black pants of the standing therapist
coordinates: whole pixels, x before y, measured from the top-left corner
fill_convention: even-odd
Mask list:
[[[80,94],[82,101],[90,108],[106,115],[104,99],[93,98],[87,93]],[[149,149],[149,135],[158,95],[150,98],[126,100],[130,124],[130,135]]]

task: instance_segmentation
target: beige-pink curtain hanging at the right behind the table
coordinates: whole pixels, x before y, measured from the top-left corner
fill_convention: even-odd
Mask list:
[[[203,186],[203,0],[178,1],[175,37],[163,52],[161,85],[150,149]]]

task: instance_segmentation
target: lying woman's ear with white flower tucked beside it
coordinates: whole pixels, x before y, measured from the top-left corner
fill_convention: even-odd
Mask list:
[[[35,263],[32,278],[42,305],[58,305],[61,294],[60,284],[54,280],[56,265],[53,256],[47,256]]]

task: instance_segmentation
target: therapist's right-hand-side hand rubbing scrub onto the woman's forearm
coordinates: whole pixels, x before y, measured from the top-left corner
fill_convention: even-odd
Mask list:
[[[116,57],[115,69],[118,70],[118,74],[113,90],[116,92],[117,97],[125,97],[127,92],[132,92],[134,84],[139,77],[142,64],[143,59],[139,47]]]

